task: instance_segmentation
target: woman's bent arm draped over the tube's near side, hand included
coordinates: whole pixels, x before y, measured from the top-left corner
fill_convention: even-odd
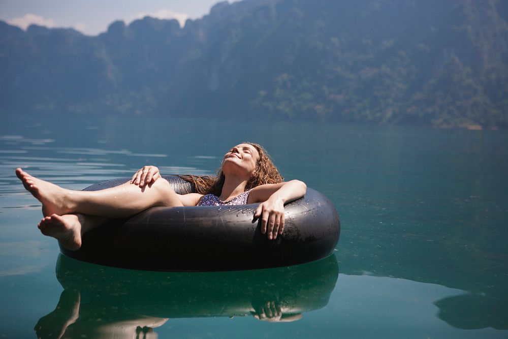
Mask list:
[[[300,180],[270,183],[253,188],[247,203],[260,202],[254,218],[261,217],[261,233],[268,231],[268,239],[277,238],[284,231],[284,204],[299,199],[307,192]]]

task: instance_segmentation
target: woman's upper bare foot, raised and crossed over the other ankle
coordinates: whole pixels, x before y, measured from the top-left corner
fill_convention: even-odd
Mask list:
[[[72,212],[68,204],[68,190],[32,176],[21,168],[16,168],[16,176],[25,189],[42,203],[42,214],[46,217],[53,213],[66,214]]]

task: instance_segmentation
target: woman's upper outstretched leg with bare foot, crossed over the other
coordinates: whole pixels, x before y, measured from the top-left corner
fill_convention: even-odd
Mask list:
[[[81,213],[105,218],[126,218],[152,206],[183,206],[166,180],[140,188],[126,182],[101,191],[72,191],[16,169],[25,189],[42,203],[45,216]]]

